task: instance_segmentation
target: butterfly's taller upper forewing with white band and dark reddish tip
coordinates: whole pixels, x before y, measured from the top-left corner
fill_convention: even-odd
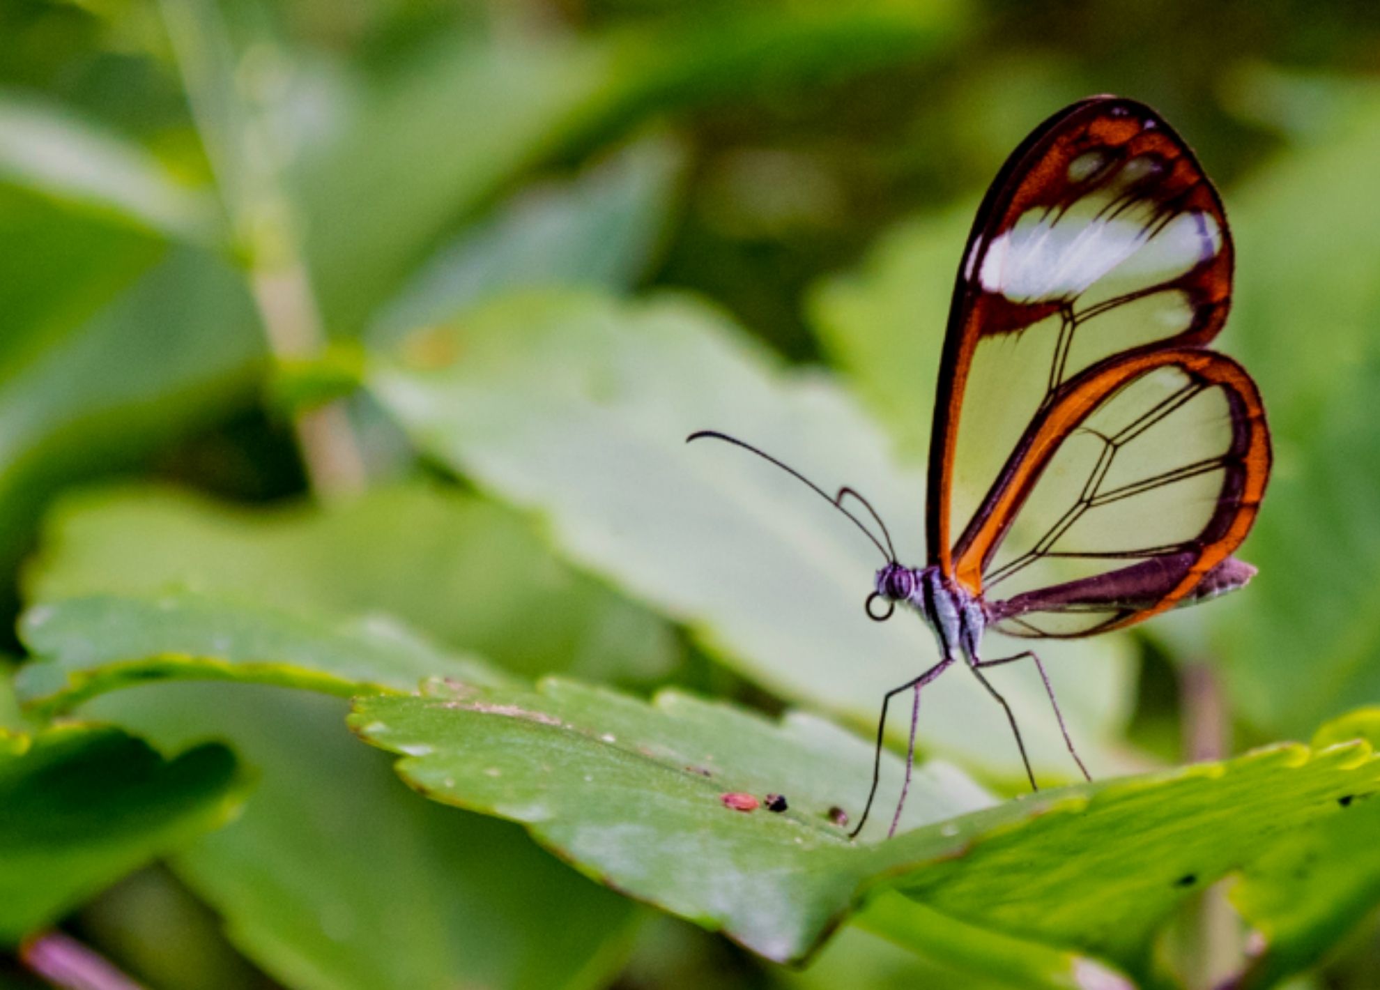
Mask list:
[[[970,558],[980,507],[1031,421],[1118,355],[1209,341],[1225,320],[1231,264],[1216,192],[1152,110],[1098,98],[1038,128],[988,192],[955,287],[931,446],[931,562],[981,591],[981,569],[955,558]],[[1115,411],[1129,409],[1122,399]],[[1086,432],[1049,468],[1081,478],[1081,460],[1097,457]],[[1070,508],[1058,490],[1041,498],[1056,503],[1045,512]],[[1092,538],[1092,521],[1108,514],[1085,515],[1078,536]],[[1047,527],[1020,529],[1038,540]]]

